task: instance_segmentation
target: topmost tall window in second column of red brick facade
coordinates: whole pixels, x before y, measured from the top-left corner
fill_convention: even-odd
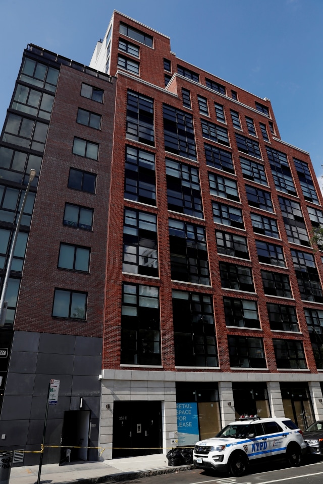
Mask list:
[[[196,160],[193,117],[163,104],[165,150]]]

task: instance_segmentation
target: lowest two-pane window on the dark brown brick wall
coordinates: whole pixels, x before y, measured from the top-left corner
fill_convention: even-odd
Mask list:
[[[51,315],[57,318],[86,319],[86,292],[55,289]]]

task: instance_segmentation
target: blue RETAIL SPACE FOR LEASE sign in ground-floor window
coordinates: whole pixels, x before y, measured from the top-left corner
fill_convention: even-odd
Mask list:
[[[178,445],[193,445],[199,440],[197,403],[177,403]]]

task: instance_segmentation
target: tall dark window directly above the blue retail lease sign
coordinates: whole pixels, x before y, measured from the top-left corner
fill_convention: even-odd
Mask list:
[[[172,291],[175,365],[218,367],[212,296]]]

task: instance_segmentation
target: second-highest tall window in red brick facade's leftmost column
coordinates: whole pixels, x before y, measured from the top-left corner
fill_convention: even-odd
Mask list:
[[[125,198],[156,205],[155,155],[126,146]]]

